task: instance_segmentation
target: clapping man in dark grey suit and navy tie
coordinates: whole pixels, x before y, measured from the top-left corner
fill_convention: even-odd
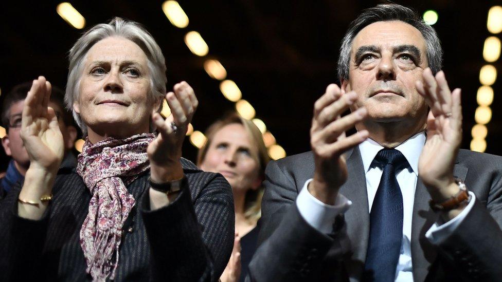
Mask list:
[[[406,7],[352,22],[312,152],[267,167],[250,280],[502,279],[502,158],[459,150],[460,89],[441,55]]]

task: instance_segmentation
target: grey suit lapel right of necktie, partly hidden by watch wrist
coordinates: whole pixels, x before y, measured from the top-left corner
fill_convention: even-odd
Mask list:
[[[454,176],[465,180],[468,168],[455,164]],[[429,267],[436,259],[437,248],[425,237],[437,219],[437,215],[429,207],[431,196],[420,178],[417,181],[411,219],[411,261],[413,264],[414,281],[423,281],[429,272]]]

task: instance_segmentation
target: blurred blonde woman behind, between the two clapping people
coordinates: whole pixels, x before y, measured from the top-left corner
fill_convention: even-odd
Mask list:
[[[267,149],[256,125],[237,114],[214,122],[206,137],[197,159],[199,167],[221,173],[234,192],[236,240],[221,280],[244,281],[257,247]]]

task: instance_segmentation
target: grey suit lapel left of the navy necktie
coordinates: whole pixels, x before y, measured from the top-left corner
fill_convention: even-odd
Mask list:
[[[349,275],[360,276],[364,270],[369,236],[369,208],[366,177],[359,147],[348,152],[347,182],[340,188],[340,193],[352,201],[352,206],[345,213],[349,242],[342,242],[344,251],[350,250],[352,256],[347,263]]]

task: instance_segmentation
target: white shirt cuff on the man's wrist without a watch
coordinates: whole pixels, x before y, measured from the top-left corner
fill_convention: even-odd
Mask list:
[[[296,206],[300,215],[317,231],[329,234],[333,232],[333,222],[340,213],[345,213],[352,204],[344,195],[336,196],[335,204],[325,204],[310,194],[307,187],[312,178],[307,180],[296,198]]]

